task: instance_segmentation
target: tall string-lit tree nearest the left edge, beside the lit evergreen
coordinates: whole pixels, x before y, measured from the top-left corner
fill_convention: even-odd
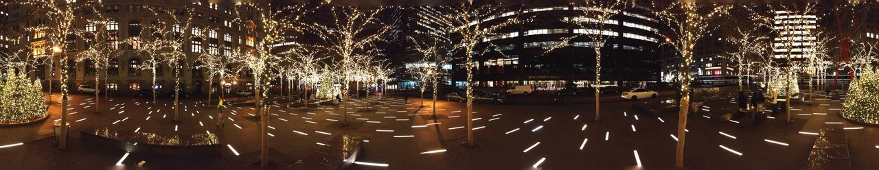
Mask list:
[[[103,16],[101,12],[104,10],[103,1],[102,0],[91,0],[91,1],[69,1],[69,0],[21,0],[15,2],[17,4],[21,4],[24,6],[29,6],[34,9],[33,15],[39,16],[41,18],[45,18],[45,24],[39,25],[31,25],[25,27],[25,31],[29,32],[41,32],[42,35],[45,35],[45,44],[44,46],[39,46],[40,54],[44,54],[48,52],[54,52],[60,56],[61,60],[67,62],[69,60],[68,49],[73,46],[67,46],[66,39],[69,36],[74,37],[82,37],[83,28],[76,26],[81,23],[91,23],[92,21],[103,20]],[[84,17],[80,15],[82,13],[91,13],[87,14],[88,17]],[[40,33],[38,33],[40,34]],[[51,47],[50,47],[51,46]],[[46,49],[52,49],[51,51]],[[68,108],[68,70],[67,64],[62,64],[62,72],[61,72],[61,89],[62,89],[62,108],[61,108],[61,138],[59,138],[58,148],[64,150],[67,147],[67,133],[68,133],[68,122],[67,122],[67,108]],[[51,81],[50,81],[51,83]]]

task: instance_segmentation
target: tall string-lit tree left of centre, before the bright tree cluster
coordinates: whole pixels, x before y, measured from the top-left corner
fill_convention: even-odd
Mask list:
[[[334,57],[334,68],[338,80],[342,82],[341,96],[344,110],[348,110],[348,91],[350,83],[355,81],[355,76],[361,70],[360,66],[368,65],[365,62],[373,58],[372,55],[380,53],[375,48],[377,43],[387,41],[383,35],[391,30],[389,25],[381,23],[376,16],[384,8],[372,10],[361,7],[327,5],[329,23],[316,22],[309,25],[309,32],[317,39],[314,46]],[[330,84],[321,83],[321,89]],[[343,111],[342,125],[348,125],[348,111]]]

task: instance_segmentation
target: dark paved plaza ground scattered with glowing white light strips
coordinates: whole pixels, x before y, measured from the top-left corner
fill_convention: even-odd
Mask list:
[[[287,109],[275,105],[270,110],[269,145],[286,154],[288,159],[305,159],[309,152],[337,135],[360,136],[367,142],[363,144],[364,155],[356,161],[380,166],[355,164],[353,169],[529,169],[538,162],[541,163],[536,166],[541,169],[624,169],[637,168],[639,163],[646,169],[668,169],[674,162],[676,143],[672,136],[678,120],[676,113],[654,116],[633,109],[634,103],[668,98],[602,103],[603,121],[598,123],[592,121],[593,108],[587,104],[474,104],[475,148],[461,145],[466,141],[464,103],[438,101],[438,118],[433,120],[429,117],[432,106],[418,107],[417,98],[410,98],[409,103],[403,103],[401,98],[382,98],[378,103],[354,100],[348,110],[352,125],[347,127],[338,124],[343,118],[341,107]],[[226,125],[222,130],[216,130],[212,118],[216,117],[217,110],[205,108],[203,99],[183,101],[179,124],[171,122],[173,110],[169,99],[160,100],[156,106],[146,98],[112,97],[111,100],[102,103],[101,113],[96,114],[91,108],[94,107],[91,96],[71,97],[72,145],[64,152],[54,148],[52,130],[47,128],[59,117],[57,103],[50,109],[52,117],[42,124],[0,129],[3,134],[0,144],[25,143],[0,149],[0,154],[13,158],[3,159],[0,166],[15,169],[113,167],[125,151],[77,139],[81,138],[78,131],[95,126],[156,134],[220,133],[222,145],[228,144],[238,153],[259,150],[258,122],[248,118],[255,111],[252,107],[229,106],[227,115],[232,115],[224,120]],[[363,111],[369,107],[376,110]],[[879,167],[870,159],[879,154],[879,148],[874,146],[879,145],[877,128],[843,121],[836,115],[838,101],[817,100],[811,106],[795,104],[793,108],[793,124],[784,124],[779,116],[750,128],[727,120],[688,117],[686,166],[694,169],[802,168],[810,164],[810,148],[817,136],[801,131],[817,132],[822,124],[839,122],[844,127],[852,127],[845,131],[851,147],[852,167]],[[445,152],[423,153],[440,150]],[[122,164],[136,166],[145,161],[143,168],[149,169],[248,167],[239,157],[227,147],[223,147],[219,155],[180,158],[135,152],[122,160]]]

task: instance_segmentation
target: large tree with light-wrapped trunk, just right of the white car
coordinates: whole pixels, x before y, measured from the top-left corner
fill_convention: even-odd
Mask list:
[[[684,166],[684,142],[686,141],[686,116],[690,104],[690,64],[693,62],[693,48],[696,42],[716,29],[714,22],[730,10],[729,5],[697,4],[694,2],[673,2],[669,4],[653,4],[657,11],[654,14],[660,24],[668,27],[667,33],[655,30],[659,35],[670,35],[665,43],[671,44],[681,54],[679,75],[680,92],[678,112],[678,145],[675,152],[674,165]]]

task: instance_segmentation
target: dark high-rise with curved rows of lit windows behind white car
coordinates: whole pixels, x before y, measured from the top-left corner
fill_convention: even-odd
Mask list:
[[[587,87],[595,80],[595,53],[585,36],[570,41],[570,46],[547,50],[563,43],[563,39],[586,33],[571,24],[589,7],[564,4],[517,4],[498,16],[483,18],[483,25],[497,24],[503,18],[530,18],[527,23],[500,29],[498,36],[483,39],[474,53],[473,80],[476,87],[498,87],[512,84],[535,85],[539,89]],[[602,84],[659,81],[659,39],[657,18],[650,16],[649,7],[635,5],[618,11],[606,24],[609,39],[602,50]],[[585,22],[592,22],[588,19]],[[487,27],[487,26],[483,26]],[[455,63],[456,86],[466,83],[466,66]]]

